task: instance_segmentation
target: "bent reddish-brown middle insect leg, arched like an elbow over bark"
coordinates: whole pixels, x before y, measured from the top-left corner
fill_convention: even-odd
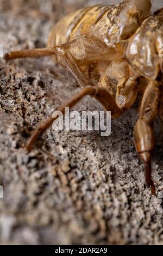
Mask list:
[[[99,87],[86,87],[84,88],[80,93],[72,97],[71,100],[69,100],[67,103],[62,105],[61,108],[58,109],[62,114],[65,113],[65,107],[72,108],[78,101],[80,101],[84,96],[91,95],[95,97],[96,100],[98,100],[103,107],[106,109],[106,111],[111,111],[112,117],[119,117],[123,113],[123,109],[118,108],[116,102],[112,98],[112,96],[109,94],[108,90],[104,88]],[[27,144],[26,149],[27,151],[30,151],[33,147],[34,142],[36,139],[48,129],[49,126],[52,125],[53,121],[57,119],[54,117],[47,118],[40,126],[32,133],[30,136]]]

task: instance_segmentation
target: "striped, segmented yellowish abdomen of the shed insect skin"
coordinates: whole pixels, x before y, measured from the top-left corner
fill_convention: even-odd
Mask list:
[[[47,46],[62,45],[89,33],[91,27],[111,8],[112,5],[94,5],[66,15],[52,28]]]

